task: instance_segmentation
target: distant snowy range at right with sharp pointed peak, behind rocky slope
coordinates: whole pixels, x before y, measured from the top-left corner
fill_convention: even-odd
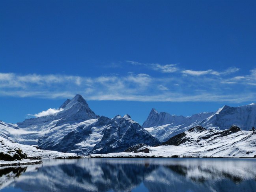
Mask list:
[[[161,141],[179,134],[191,127],[202,125],[206,129],[228,129],[237,125],[242,130],[250,130],[256,126],[256,104],[239,107],[224,107],[213,112],[203,112],[189,117],[158,113],[152,109],[142,127]]]

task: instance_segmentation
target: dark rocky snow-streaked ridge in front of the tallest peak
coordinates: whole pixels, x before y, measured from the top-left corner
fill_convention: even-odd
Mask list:
[[[148,145],[160,143],[128,115],[112,119],[102,116],[91,124],[88,121],[80,123],[58,145],[50,149],[86,154],[110,153],[121,152],[141,142]]]

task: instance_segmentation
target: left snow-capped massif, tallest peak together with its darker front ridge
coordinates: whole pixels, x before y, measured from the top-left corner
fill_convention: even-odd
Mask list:
[[[138,143],[160,143],[129,115],[97,116],[81,95],[67,99],[60,109],[17,125],[2,122],[0,135],[20,144],[79,154],[121,152]]]

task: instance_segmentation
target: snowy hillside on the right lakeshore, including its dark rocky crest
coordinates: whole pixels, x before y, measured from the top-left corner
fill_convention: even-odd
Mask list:
[[[233,126],[226,130],[207,130],[201,126],[182,132],[159,146],[143,146],[150,153],[110,153],[102,157],[254,157],[256,132]]]

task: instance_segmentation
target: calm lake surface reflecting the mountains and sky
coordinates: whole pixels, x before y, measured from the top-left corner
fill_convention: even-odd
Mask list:
[[[256,159],[86,158],[0,168],[1,191],[255,191]]]

